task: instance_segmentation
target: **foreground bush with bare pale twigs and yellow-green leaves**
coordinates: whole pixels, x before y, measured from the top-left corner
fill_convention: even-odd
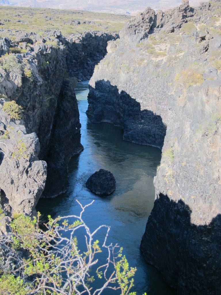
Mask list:
[[[82,214],[89,205],[80,204],[79,216],[52,219],[49,215],[45,231],[39,228],[39,213],[34,219],[18,216],[10,224],[12,232],[1,236],[0,248],[12,255],[18,268],[0,276],[1,294],[95,295],[110,288],[121,295],[136,295],[130,292],[136,268],[129,267],[122,248],[106,245],[110,228],[101,225],[90,232],[83,221]],[[100,229],[106,229],[102,246],[96,240]],[[84,251],[77,245],[77,235],[82,231]],[[107,252],[107,260],[97,265],[102,250]],[[21,253],[29,255],[22,257]],[[98,283],[93,283],[95,280]]]

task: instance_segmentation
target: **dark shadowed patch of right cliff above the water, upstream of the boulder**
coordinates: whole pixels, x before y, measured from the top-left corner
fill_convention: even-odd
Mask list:
[[[166,126],[160,116],[141,110],[141,104],[109,81],[89,86],[87,114],[94,123],[109,122],[123,128],[123,139],[162,148]]]

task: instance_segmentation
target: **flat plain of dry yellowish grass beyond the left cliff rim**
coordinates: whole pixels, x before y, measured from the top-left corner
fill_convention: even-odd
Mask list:
[[[59,30],[65,36],[89,30],[119,32],[131,17],[87,11],[1,6],[0,19],[4,24],[1,28],[14,33],[18,30],[36,33]],[[77,22],[80,24],[76,25]],[[0,33],[0,37],[4,36]]]

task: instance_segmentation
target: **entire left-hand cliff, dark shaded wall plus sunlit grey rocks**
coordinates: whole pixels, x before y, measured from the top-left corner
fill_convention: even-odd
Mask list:
[[[64,38],[56,31],[41,37],[18,33],[13,42],[8,37],[0,39],[0,208],[4,218],[13,212],[31,215],[41,196],[66,191],[67,164],[83,149],[74,88],[77,81],[92,76],[95,64],[107,52],[107,42],[117,37],[87,32]],[[3,111],[4,103],[13,100],[23,108],[21,120]]]

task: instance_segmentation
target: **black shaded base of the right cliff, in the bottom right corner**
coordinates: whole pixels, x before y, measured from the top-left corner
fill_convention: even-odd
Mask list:
[[[192,224],[189,206],[160,194],[141,251],[177,294],[221,294],[220,224],[220,214],[210,224]]]

